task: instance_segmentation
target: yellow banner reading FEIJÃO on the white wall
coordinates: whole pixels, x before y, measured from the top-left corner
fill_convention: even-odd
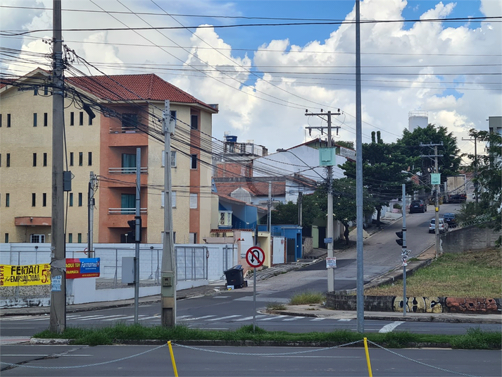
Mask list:
[[[51,284],[50,264],[9,266],[0,264],[0,287]]]

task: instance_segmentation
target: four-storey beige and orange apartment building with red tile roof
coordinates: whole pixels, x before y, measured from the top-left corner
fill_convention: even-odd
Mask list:
[[[37,69],[0,87],[0,241],[50,242],[52,88]],[[96,175],[94,242],[127,242],[134,218],[136,151],[141,149],[142,242],[162,242],[162,114],[176,119],[171,142],[175,242],[198,243],[211,232],[211,132],[208,105],[157,75],[65,79],[67,242],[87,242],[89,175]]]

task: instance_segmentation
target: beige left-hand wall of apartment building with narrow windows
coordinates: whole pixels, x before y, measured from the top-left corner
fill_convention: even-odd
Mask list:
[[[50,226],[15,226],[14,218],[19,216],[51,217],[51,176],[52,176],[52,97],[44,96],[43,89],[35,96],[33,90],[19,92],[15,87],[3,89],[0,94],[2,127],[0,128],[0,242],[30,242],[30,234],[46,235],[50,242]],[[70,170],[72,180],[73,206],[68,206],[68,233],[77,234],[82,242],[87,242],[87,186],[89,171],[99,174],[99,117],[88,125],[89,117],[83,113],[83,125],[79,125],[80,111],[75,102],[65,99],[65,153],[64,170]],[[75,114],[75,125],[70,125],[70,113]],[[7,114],[11,114],[11,127],[7,128]],[[33,113],[37,113],[37,127],[33,126]],[[44,113],[47,125],[44,127]],[[84,142],[83,142],[84,141]],[[70,163],[73,152],[73,166]],[[82,166],[79,166],[79,152],[82,152]],[[92,166],[88,166],[88,152],[92,152]],[[11,166],[6,167],[6,154],[11,154]],[[37,154],[37,166],[33,166],[33,154]],[[44,153],[47,154],[43,166]],[[66,160],[68,159],[68,160]],[[82,193],[82,206],[78,206],[78,194]],[[10,194],[10,206],[6,208],[6,193]],[[36,195],[36,205],[32,206],[32,193]],[[42,206],[43,194],[46,206]],[[65,193],[65,204],[68,193]],[[99,206],[99,202],[96,202]],[[98,234],[94,233],[94,240]]]

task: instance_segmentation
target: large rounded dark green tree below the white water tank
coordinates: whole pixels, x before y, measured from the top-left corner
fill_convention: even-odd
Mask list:
[[[415,128],[413,132],[403,130],[403,137],[398,139],[396,144],[401,147],[401,154],[409,156],[408,162],[414,171],[420,170],[422,177],[427,181],[430,173],[434,173],[434,158],[422,157],[427,154],[434,154],[431,147],[420,147],[420,144],[441,144],[438,147],[439,173],[441,182],[446,181],[448,175],[457,175],[460,166],[460,149],[457,147],[457,139],[453,134],[448,133],[448,129],[442,125],[429,124],[426,128]]]

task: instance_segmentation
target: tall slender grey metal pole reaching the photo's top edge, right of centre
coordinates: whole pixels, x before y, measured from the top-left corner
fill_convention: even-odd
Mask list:
[[[357,226],[357,323],[364,333],[364,267],[363,267],[363,121],[360,88],[360,4],[356,0],[356,226]]]

